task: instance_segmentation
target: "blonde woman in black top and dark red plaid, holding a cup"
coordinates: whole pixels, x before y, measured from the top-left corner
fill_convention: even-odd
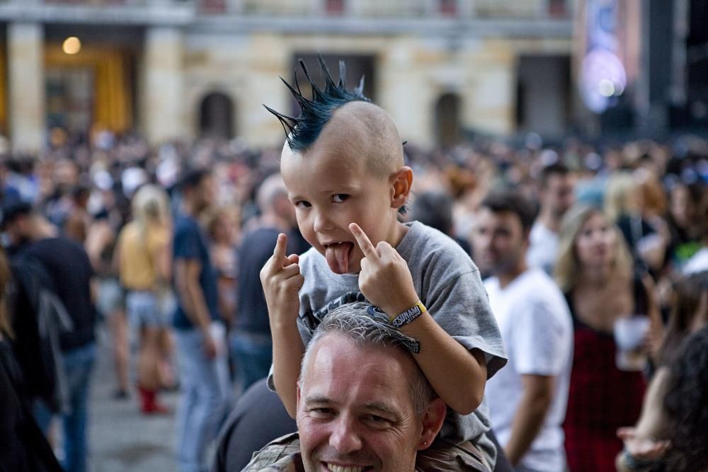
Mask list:
[[[573,316],[573,369],[564,431],[573,472],[614,470],[615,431],[639,418],[642,372],[617,367],[615,322],[632,315],[658,322],[649,281],[634,276],[624,238],[595,207],[576,206],[561,224],[556,282]],[[658,329],[658,328],[656,328]]]

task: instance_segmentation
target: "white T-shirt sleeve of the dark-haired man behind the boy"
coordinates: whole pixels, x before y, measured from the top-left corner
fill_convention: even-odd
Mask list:
[[[519,374],[561,374],[571,345],[564,316],[561,307],[545,299],[527,299],[524,309],[514,311],[510,345]]]

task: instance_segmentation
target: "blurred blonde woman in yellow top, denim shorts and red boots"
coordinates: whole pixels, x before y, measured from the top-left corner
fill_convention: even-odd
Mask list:
[[[127,294],[126,311],[131,326],[139,330],[137,386],[142,413],[167,413],[156,400],[164,385],[161,378],[161,333],[167,321],[159,294],[171,275],[169,200],[156,185],[144,185],[132,201],[133,221],[118,236],[116,248],[120,282]]]

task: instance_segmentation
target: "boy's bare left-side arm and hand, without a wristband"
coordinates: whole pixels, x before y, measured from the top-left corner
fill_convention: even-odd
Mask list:
[[[297,414],[297,379],[304,346],[297,330],[299,289],[304,277],[297,255],[285,255],[287,236],[278,235],[273,257],[261,269],[261,284],[268,305],[270,332],[273,335],[273,382],[287,413]]]

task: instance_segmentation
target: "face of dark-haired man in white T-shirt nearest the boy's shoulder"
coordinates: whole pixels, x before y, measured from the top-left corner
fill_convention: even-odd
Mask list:
[[[512,212],[477,212],[474,231],[474,262],[485,272],[503,274],[515,270],[526,254],[527,237],[521,221]]]

